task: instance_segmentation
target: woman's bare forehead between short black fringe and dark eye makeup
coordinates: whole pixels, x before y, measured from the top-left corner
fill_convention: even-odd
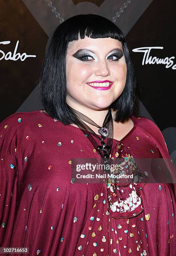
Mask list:
[[[81,48],[87,48],[90,50],[103,51],[111,50],[113,48],[120,48],[123,51],[123,47],[120,41],[113,38],[90,38],[85,36],[83,39],[74,40],[68,43],[68,52],[72,52]]]

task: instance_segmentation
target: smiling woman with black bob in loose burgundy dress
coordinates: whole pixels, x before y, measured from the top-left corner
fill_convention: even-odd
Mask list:
[[[136,77],[123,33],[93,14],[63,22],[40,95],[43,110],[0,124],[0,246],[29,255],[176,255],[173,184],[144,183],[142,172],[143,183],[75,182],[71,172],[74,159],[170,159],[158,127],[132,115]]]

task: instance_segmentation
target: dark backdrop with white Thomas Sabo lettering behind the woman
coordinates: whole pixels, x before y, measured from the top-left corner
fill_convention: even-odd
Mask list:
[[[58,24],[98,14],[126,36],[140,87],[138,114],[160,128],[176,163],[175,0],[0,0],[0,122],[43,108],[37,80]]]

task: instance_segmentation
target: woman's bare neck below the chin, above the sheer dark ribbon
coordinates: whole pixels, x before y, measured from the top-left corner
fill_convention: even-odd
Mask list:
[[[82,113],[83,115],[86,115],[88,118],[90,118],[91,120],[93,120],[96,124],[98,124],[99,126],[103,125],[103,121],[108,113],[109,107],[108,108],[104,108],[104,109],[91,109],[91,108],[87,108],[85,106],[76,106],[76,105],[69,105],[71,108],[79,111],[80,113]],[[114,117],[114,115],[116,114],[115,111],[113,111],[113,109],[111,109],[111,113],[112,113],[112,117]],[[86,122],[85,122],[86,123]]]

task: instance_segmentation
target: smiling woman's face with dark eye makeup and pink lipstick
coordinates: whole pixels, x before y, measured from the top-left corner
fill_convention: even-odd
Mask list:
[[[126,84],[126,61],[121,42],[87,36],[69,42],[66,81],[66,102],[72,108],[108,108]]]

